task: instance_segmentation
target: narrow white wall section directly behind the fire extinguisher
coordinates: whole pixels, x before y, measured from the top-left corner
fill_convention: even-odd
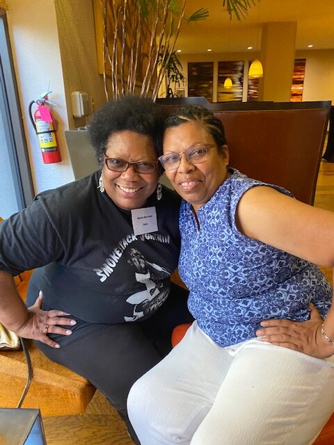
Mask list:
[[[68,159],[63,131],[68,129],[65,90],[58,44],[56,13],[53,0],[8,0],[8,26],[15,63],[15,72],[22,107],[24,131],[29,149],[35,193],[54,188],[74,179]],[[31,125],[28,106],[50,88],[52,108],[58,121],[61,163],[45,164],[38,138]]]

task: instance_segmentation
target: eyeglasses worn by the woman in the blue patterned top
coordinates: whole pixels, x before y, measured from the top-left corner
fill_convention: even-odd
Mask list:
[[[197,144],[192,145],[187,148],[184,152],[181,153],[168,153],[163,156],[159,156],[159,161],[165,170],[172,171],[176,170],[181,162],[182,156],[186,156],[186,160],[192,164],[197,164],[200,162],[204,162],[207,159],[207,154],[209,149],[213,147],[219,147],[216,144]]]

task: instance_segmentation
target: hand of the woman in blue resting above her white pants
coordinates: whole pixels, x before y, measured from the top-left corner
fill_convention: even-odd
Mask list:
[[[323,320],[317,308],[310,304],[310,320],[297,322],[287,319],[264,320],[256,331],[261,341],[294,349],[301,353],[325,359],[333,355],[333,346],[321,334]],[[327,344],[328,343],[328,344]]]

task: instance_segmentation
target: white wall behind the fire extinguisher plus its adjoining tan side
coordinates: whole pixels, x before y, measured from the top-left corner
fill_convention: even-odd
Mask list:
[[[8,0],[8,26],[35,193],[74,180],[64,131],[86,124],[72,116],[72,91],[88,92],[90,113],[106,102],[98,74],[92,0]],[[28,105],[50,86],[61,163],[45,164]]]

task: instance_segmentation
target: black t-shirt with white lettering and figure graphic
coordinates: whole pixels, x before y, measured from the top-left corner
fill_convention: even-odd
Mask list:
[[[148,318],[168,297],[180,252],[180,198],[163,188],[158,232],[134,235],[131,211],[97,189],[100,172],[53,191],[0,223],[0,270],[42,267],[47,307],[90,323]],[[37,297],[37,296],[36,296]]]

